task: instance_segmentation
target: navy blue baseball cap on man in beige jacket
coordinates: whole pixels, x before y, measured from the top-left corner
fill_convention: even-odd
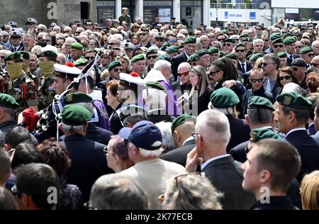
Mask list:
[[[162,147],[162,133],[151,121],[140,121],[133,128],[122,128],[118,135],[144,150]]]

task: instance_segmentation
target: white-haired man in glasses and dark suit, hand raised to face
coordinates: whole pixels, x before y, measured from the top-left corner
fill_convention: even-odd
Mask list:
[[[241,163],[226,153],[230,140],[230,125],[225,114],[206,110],[199,114],[195,133],[196,148],[187,156],[186,169],[194,172],[198,164],[201,171],[224,196],[223,209],[250,209],[254,195],[242,189]]]

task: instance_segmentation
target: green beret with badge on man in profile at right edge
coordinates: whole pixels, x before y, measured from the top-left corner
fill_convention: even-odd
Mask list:
[[[296,109],[308,109],[313,107],[313,103],[306,97],[296,94],[295,92],[281,94],[277,96],[276,100],[281,106],[286,106]]]

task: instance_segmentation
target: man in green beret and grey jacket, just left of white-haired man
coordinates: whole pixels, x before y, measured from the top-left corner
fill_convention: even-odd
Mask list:
[[[176,162],[185,167],[186,157],[195,147],[195,140],[191,136],[195,130],[196,117],[183,114],[172,122],[172,135],[177,149],[161,155],[160,158],[169,162]]]

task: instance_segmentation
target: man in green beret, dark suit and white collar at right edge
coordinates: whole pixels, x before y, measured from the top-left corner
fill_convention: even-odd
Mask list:
[[[286,134],[286,140],[296,147],[301,155],[301,172],[297,177],[301,181],[304,174],[319,169],[319,145],[306,130],[313,103],[294,92],[281,94],[276,99],[279,103],[275,118],[278,131]]]

